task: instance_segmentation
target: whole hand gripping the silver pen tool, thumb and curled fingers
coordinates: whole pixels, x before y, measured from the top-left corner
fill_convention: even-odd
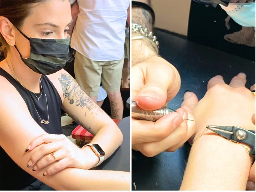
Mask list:
[[[145,110],[155,110],[175,97],[180,76],[173,65],[153,56],[132,67],[132,100]],[[186,106],[177,110],[184,118],[193,119]],[[145,156],[162,151],[175,151],[194,134],[195,123],[179,113],[165,115],[157,122],[132,119],[132,148]]]

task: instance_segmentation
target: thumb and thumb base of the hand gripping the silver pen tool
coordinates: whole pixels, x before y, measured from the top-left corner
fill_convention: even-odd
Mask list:
[[[132,100],[145,110],[155,110],[175,97],[180,89],[176,68],[153,56],[132,67]]]

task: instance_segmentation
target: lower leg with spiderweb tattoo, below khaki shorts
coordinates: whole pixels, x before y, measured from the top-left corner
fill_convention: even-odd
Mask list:
[[[123,100],[120,91],[118,92],[107,92],[107,96],[110,101],[111,116],[112,119],[123,118]]]

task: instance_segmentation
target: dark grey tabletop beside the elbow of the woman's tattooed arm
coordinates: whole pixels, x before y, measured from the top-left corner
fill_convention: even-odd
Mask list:
[[[92,170],[114,170],[130,172],[130,117],[123,118],[118,127],[123,134],[122,145],[99,166]],[[114,142],[114,141],[113,141]]]

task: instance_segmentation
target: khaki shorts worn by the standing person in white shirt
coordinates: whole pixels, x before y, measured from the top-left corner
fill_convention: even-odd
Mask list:
[[[124,56],[116,61],[94,61],[74,52],[76,81],[89,97],[97,97],[99,86],[107,92],[120,90]]]

